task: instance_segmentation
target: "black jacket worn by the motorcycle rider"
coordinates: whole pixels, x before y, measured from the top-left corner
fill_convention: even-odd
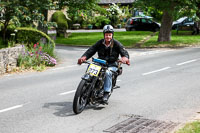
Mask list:
[[[125,50],[123,45],[113,39],[113,45],[106,47],[104,45],[104,39],[99,40],[96,44],[91,46],[82,56],[86,56],[87,59],[92,57],[95,53],[98,53],[98,58],[106,60],[109,66],[117,66],[117,60],[119,55],[121,57],[129,58],[128,52]]]

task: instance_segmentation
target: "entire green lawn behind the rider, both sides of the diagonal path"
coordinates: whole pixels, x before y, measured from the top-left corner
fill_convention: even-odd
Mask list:
[[[200,45],[200,35],[191,35],[192,31],[172,31],[170,42],[157,42],[158,32],[151,37],[144,44],[140,45],[141,48],[151,47],[180,47]],[[136,45],[145,37],[151,35],[152,32],[148,31],[127,31],[115,32],[114,38],[120,41],[126,47],[136,47]],[[103,33],[72,33],[69,38],[57,37],[56,44],[63,44],[68,46],[91,46],[98,40],[103,38]],[[138,46],[138,45],[137,45]]]

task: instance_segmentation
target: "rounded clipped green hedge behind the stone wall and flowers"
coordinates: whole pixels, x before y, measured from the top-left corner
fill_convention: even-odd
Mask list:
[[[33,43],[39,42],[42,37],[46,38],[47,43],[51,44],[53,48],[55,47],[54,41],[42,31],[26,27],[17,28],[16,30],[17,41],[26,44],[29,48]]]

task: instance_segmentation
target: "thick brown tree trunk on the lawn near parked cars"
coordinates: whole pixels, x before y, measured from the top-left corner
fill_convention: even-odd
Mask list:
[[[172,28],[173,16],[166,10],[163,12],[161,28],[158,36],[158,42],[171,41],[171,28]]]

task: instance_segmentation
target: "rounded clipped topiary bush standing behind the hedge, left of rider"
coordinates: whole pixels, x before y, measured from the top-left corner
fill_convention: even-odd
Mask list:
[[[68,29],[67,18],[62,11],[57,11],[52,15],[52,21],[57,23],[58,29]]]

